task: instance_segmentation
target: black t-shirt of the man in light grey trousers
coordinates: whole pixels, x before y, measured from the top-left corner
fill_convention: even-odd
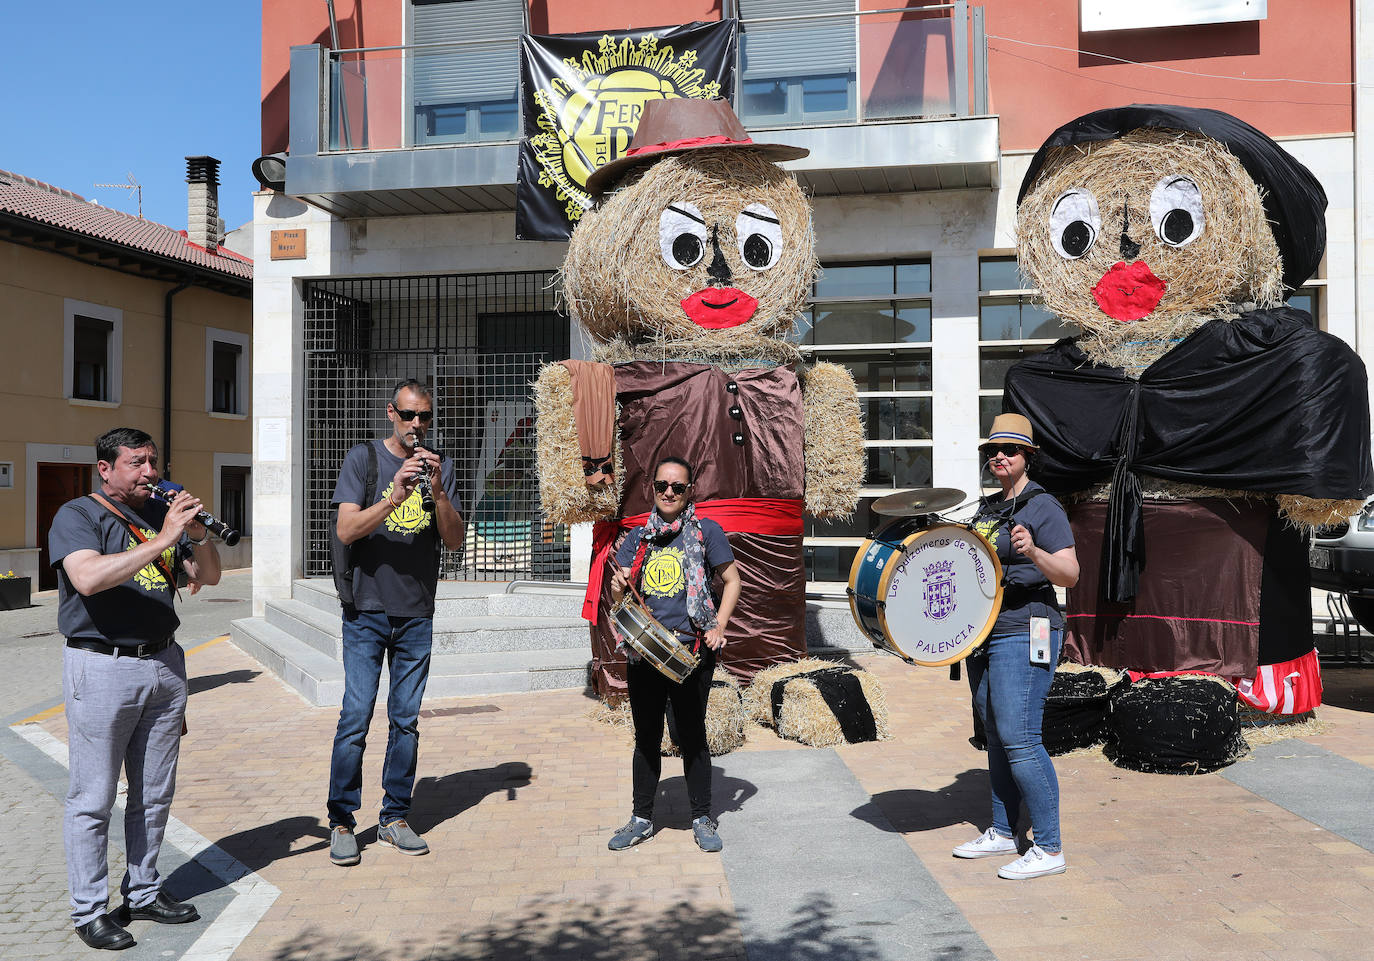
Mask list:
[[[137,513],[114,502],[143,536],[153,540],[162,529],[166,505],[150,499]],[[69,638],[104,641],[121,648],[162,641],[181,623],[172,609],[176,586],[169,584],[157,564],[135,572],[122,584],[84,597],[71,586],[62,561],[78,550],[99,554],[122,554],[140,542],[129,528],[103,505],[91,498],[69,500],[58,509],[48,531],[48,557],[58,571],[58,630]],[[162,562],[176,576],[180,562],[190,553],[187,538],[162,551]]]

